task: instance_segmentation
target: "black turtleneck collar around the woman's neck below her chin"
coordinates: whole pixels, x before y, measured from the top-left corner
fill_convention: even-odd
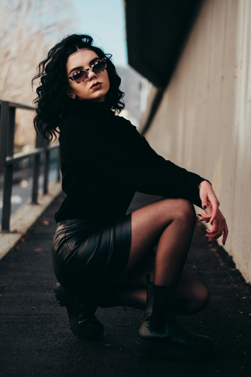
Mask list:
[[[71,107],[74,113],[85,116],[111,116],[114,112],[110,109],[107,101],[95,102],[87,100],[71,100]]]

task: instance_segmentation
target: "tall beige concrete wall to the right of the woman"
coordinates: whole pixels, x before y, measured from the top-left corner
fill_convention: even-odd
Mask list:
[[[224,248],[247,282],[251,281],[250,46],[251,1],[206,0],[145,133],[157,153],[212,183],[229,230]]]

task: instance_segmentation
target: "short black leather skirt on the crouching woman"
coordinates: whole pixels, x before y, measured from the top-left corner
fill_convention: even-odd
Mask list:
[[[55,276],[66,289],[103,296],[125,270],[130,247],[131,213],[109,221],[60,221],[52,243]]]

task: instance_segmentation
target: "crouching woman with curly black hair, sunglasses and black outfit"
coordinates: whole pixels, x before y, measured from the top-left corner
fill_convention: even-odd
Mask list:
[[[212,223],[208,241],[224,234],[225,243],[219,201],[207,179],[165,160],[116,116],[124,108],[121,80],[111,55],[92,43],[88,35],[65,37],[33,78],[41,78],[36,132],[49,140],[48,132],[51,141],[60,130],[66,197],[55,213],[56,299],[66,306],[76,336],[103,335],[98,306],[128,305],[145,309],[138,357],[210,359],[213,341],[183,328],[173,314],[198,313],[208,303],[207,286],[183,266],[196,220],[193,204],[205,210],[201,221]],[[126,215],[136,191],[163,198]]]

